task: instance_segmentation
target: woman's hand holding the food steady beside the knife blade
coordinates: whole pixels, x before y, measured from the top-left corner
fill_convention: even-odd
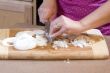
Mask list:
[[[74,21],[65,16],[60,16],[51,22],[50,35],[52,37],[66,34],[80,34],[83,32],[84,26],[79,21]]]

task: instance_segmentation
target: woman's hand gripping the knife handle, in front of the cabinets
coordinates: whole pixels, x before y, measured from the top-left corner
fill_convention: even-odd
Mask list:
[[[42,23],[53,20],[56,17],[56,13],[56,0],[44,0],[38,9],[38,15]]]

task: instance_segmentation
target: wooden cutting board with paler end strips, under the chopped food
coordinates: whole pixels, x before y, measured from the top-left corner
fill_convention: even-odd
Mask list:
[[[14,36],[22,30],[33,29],[1,29],[0,38]],[[1,35],[1,33],[4,33]],[[101,32],[92,29],[86,32],[91,35],[98,35],[103,38]],[[1,39],[1,40],[2,40]],[[108,48],[104,38],[92,45],[92,48],[69,47],[68,49],[55,50],[51,46],[36,47],[33,50],[18,51],[13,47],[5,47],[0,44],[0,59],[37,59],[37,60],[53,60],[53,59],[106,59],[109,56]]]

